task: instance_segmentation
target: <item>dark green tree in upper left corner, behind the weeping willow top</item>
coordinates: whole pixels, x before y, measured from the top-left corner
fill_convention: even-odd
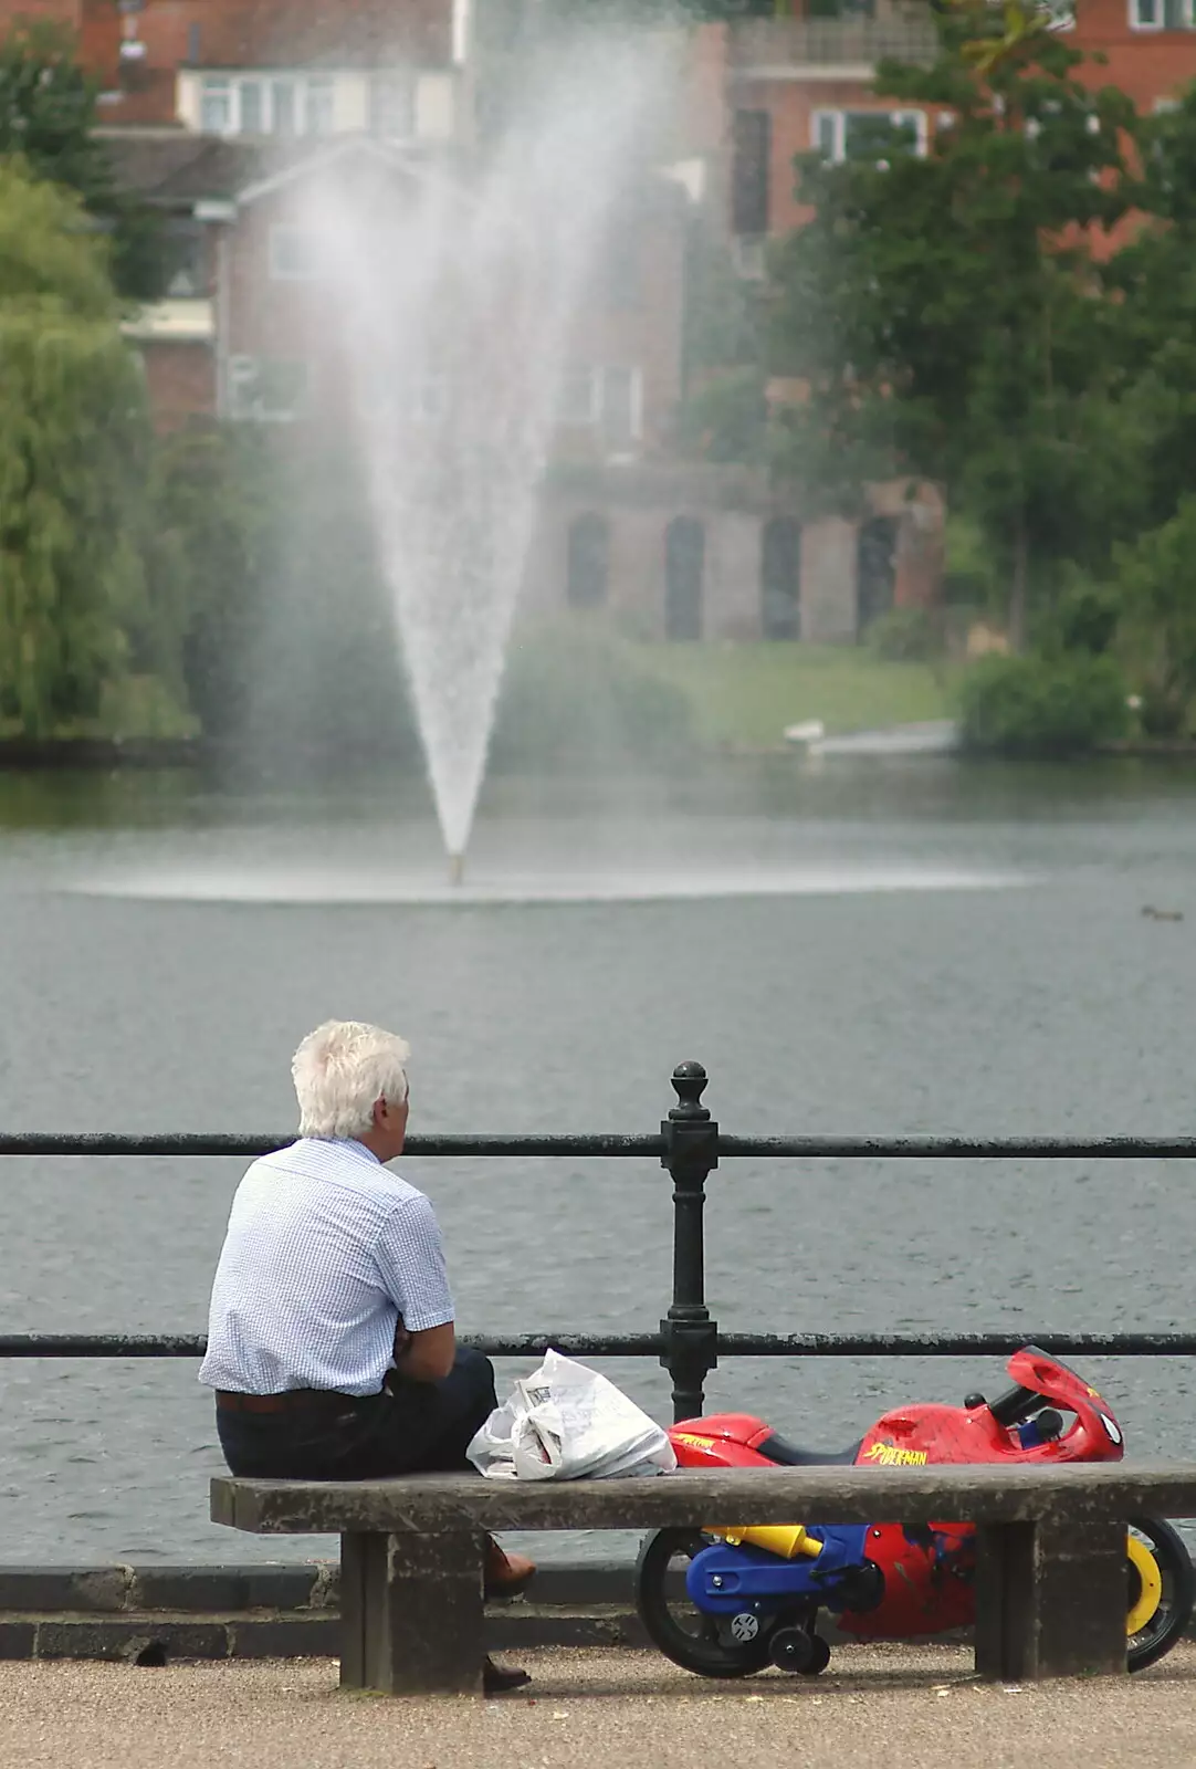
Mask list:
[[[166,281],[166,246],[154,211],[117,189],[96,136],[97,85],[83,73],[73,32],[51,19],[19,19],[0,41],[0,157],[19,154],[42,179],[76,191],[110,237],[122,295],[156,299]]]

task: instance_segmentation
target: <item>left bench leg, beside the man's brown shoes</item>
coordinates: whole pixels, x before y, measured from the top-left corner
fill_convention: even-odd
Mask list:
[[[340,1539],[340,1681],[382,1695],[481,1695],[483,1537]]]

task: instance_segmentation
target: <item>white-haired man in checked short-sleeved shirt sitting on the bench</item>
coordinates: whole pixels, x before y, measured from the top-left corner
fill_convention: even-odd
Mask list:
[[[409,1054],[380,1026],[318,1026],[292,1061],[299,1141],[237,1187],[200,1369],[234,1474],[467,1468],[497,1405],[490,1360],[456,1344],[432,1205],[386,1171],[407,1136]],[[490,1543],[487,1596],[515,1596],[534,1571]],[[487,1659],[487,1691],[520,1682]]]

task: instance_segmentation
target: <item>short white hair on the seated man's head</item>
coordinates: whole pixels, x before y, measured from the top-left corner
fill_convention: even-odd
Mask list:
[[[299,1100],[299,1136],[324,1141],[361,1136],[373,1106],[407,1099],[403,1063],[410,1045],[359,1019],[327,1019],[310,1031],[290,1061]]]

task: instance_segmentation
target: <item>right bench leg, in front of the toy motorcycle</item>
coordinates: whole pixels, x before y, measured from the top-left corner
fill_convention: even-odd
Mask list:
[[[1125,1525],[977,1527],[977,1670],[1000,1682],[1125,1672]]]

